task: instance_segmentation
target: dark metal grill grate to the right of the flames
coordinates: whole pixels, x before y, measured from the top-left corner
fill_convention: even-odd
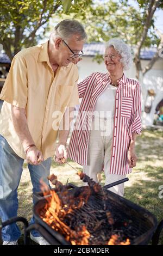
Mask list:
[[[120,235],[122,234],[122,230],[123,230],[124,236],[126,238],[128,237],[130,239],[131,243],[133,243],[133,240],[137,236],[141,236],[142,234],[147,232],[150,228],[152,228],[152,224],[147,220],[147,218],[145,218],[145,217],[140,218],[140,216],[139,216],[139,220],[135,220],[135,214],[136,214],[135,211],[134,211],[134,215],[131,216],[130,209],[128,209],[128,214],[127,214],[124,211],[121,211],[119,208],[117,208],[117,205],[114,204],[113,202],[111,202],[111,200],[109,200],[109,198],[108,198],[108,201],[109,201],[108,203],[105,202],[106,210],[110,211],[111,216],[114,217],[115,224],[113,225],[113,227],[111,225],[108,225],[108,221],[107,221],[107,218],[104,215],[104,213],[102,212],[102,214],[101,214],[101,209],[104,209],[102,197],[101,198],[91,197],[91,200],[89,200],[87,202],[87,204],[85,204],[83,206],[82,209],[77,209],[76,211],[74,211],[73,215],[78,215],[78,213],[79,213],[80,219],[81,219],[81,224],[82,224],[82,214],[83,214],[83,212],[84,213],[86,212],[87,213],[87,223],[90,223],[91,227],[92,227],[92,225],[95,226],[96,224],[98,224],[98,222],[104,220],[103,225],[99,226],[99,231],[96,231],[97,235],[95,235],[95,236],[97,236],[97,237],[101,234],[102,230],[104,231],[105,234],[107,234],[107,233],[109,234],[108,231],[111,231],[112,234],[120,233]],[[90,208],[92,210],[96,211],[95,216],[92,216],[91,212],[89,212]],[[123,226],[124,222],[128,223],[128,227],[125,228]],[[88,231],[90,231],[91,228],[89,228],[89,224],[87,224],[87,223],[84,222],[83,224],[86,224]],[[68,222],[66,224],[68,224]],[[73,224],[72,228],[75,225],[77,225],[77,223]],[[108,235],[108,241],[109,241],[109,239],[110,239],[110,235]]]

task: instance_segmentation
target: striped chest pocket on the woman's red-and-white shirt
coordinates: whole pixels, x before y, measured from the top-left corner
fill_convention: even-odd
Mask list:
[[[130,118],[132,107],[133,107],[133,98],[122,97],[121,117]]]

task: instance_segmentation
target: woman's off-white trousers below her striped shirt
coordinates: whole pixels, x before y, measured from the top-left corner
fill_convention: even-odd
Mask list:
[[[110,118],[109,120],[95,119],[92,121],[92,130],[90,131],[89,137],[87,165],[83,166],[83,172],[96,182],[98,182],[97,174],[102,171],[104,166],[105,185],[126,178],[126,175],[109,173],[113,125],[113,118]],[[124,183],[108,188],[108,190],[123,196]]]

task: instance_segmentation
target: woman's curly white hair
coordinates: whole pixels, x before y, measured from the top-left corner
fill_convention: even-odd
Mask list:
[[[132,55],[130,47],[123,42],[120,38],[112,38],[105,44],[105,48],[113,46],[115,50],[121,55],[121,62],[123,64],[123,69],[128,70],[132,62]]]

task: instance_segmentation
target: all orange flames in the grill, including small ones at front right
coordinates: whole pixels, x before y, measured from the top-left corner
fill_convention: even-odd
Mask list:
[[[78,175],[82,176],[83,174],[79,173]],[[47,203],[41,210],[40,217],[51,228],[63,235],[72,245],[89,245],[91,234],[85,225],[79,225],[75,230],[72,230],[64,221],[66,215],[71,214],[75,209],[81,208],[87,202],[91,194],[90,187],[85,186],[82,193],[77,193],[74,197],[74,193],[71,194],[67,187],[57,180],[57,176],[51,175],[49,180],[58,188],[60,197],[57,192],[49,190],[49,187],[43,181],[40,181],[43,195],[51,195],[46,197]],[[94,191],[99,191],[98,184],[94,186]],[[114,224],[111,213],[106,212],[106,216],[109,224]],[[130,245],[130,240],[122,241],[122,237],[114,234],[111,235],[106,245]]]

